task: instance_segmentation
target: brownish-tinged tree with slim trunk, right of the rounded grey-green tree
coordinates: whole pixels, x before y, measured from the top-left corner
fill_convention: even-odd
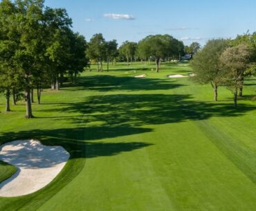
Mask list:
[[[252,52],[248,46],[239,44],[227,48],[221,55],[221,62],[226,68],[226,86],[234,95],[237,106],[237,91],[243,86],[244,73],[250,67]]]

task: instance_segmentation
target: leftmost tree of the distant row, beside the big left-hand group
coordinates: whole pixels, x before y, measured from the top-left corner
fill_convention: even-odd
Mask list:
[[[96,60],[98,71],[103,71],[102,61],[106,55],[106,42],[101,33],[95,34],[93,37],[91,37],[90,42],[88,43],[88,48],[86,50],[86,55],[90,59]]]

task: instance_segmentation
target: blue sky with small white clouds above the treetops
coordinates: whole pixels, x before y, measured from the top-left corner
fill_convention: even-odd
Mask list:
[[[138,42],[147,35],[170,34],[184,44],[236,37],[256,31],[255,0],[46,0],[46,6],[66,8],[73,30],[89,40]]]

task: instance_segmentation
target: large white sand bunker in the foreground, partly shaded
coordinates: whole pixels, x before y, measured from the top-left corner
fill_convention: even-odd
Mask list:
[[[69,158],[63,147],[44,146],[38,140],[16,140],[0,147],[0,160],[17,172],[0,183],[0,196],[23,196],[48,185]]]

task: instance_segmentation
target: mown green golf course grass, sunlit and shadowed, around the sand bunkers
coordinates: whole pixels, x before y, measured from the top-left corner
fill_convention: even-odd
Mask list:
[[[37,118],[25,120],[22,103],[0,113],[1,143],[35,138],[71,153],[52,183],[0,198],[0,210],[256,210],[255,79],[235,108],[224,87],[212,102],[210,86],[166,77],[190,66],[152,68],[93,66],[78,86],[45,90]]]

